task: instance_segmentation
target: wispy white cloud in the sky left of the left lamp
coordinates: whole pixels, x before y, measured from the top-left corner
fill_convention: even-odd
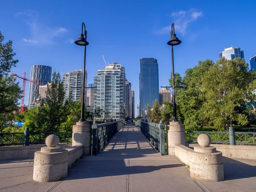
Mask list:
[[[68,29],[64,27],[46,26],[38,22],[38,14],[35,11],[17,12],[16,16],[24,16],[23,20],[29,27],[29,38],[23,38],[27,44],[54,44],[54,38],[62,37]]]

